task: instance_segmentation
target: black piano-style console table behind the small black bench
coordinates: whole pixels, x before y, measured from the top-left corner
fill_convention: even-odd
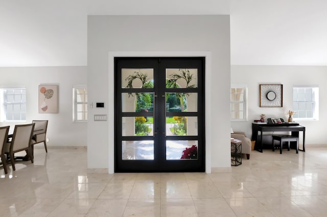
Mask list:
[[[263,132],[291,132],[293,136],[298,137],[300,131],[303,132],[303,148],[298,150],[306,151],[305,148],[306,127],[300,126],[298,123],[283,123],[283,124],[252,123],[252,140],[255,140],[254,149],[260,152],[263,151]]]

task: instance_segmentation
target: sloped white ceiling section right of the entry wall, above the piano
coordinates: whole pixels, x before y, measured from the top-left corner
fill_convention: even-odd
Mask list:
[[[327,65],[327,1],[230,2],[231,65]]]

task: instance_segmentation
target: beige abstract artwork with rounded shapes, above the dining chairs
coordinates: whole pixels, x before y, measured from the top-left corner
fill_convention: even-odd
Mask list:
[[[39,113],[58,113],[58,85],[39,85]]]

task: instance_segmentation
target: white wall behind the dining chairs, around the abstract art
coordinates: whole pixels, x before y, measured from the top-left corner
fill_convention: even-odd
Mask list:
[[[47,146],[86,146],[87,123],[73,122],[73,85],[86,85],[86,66],[72,67],[0,67],[0,86],[25,86],[26,122],[0,122],[0,126],[49,120]],[[38,113],[38,86],[58,85],[58,114]]]

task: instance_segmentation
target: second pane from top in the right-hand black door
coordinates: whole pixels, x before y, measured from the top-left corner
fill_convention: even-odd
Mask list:
[[[167,112],[197,112],[197,93],[166,93]]]

